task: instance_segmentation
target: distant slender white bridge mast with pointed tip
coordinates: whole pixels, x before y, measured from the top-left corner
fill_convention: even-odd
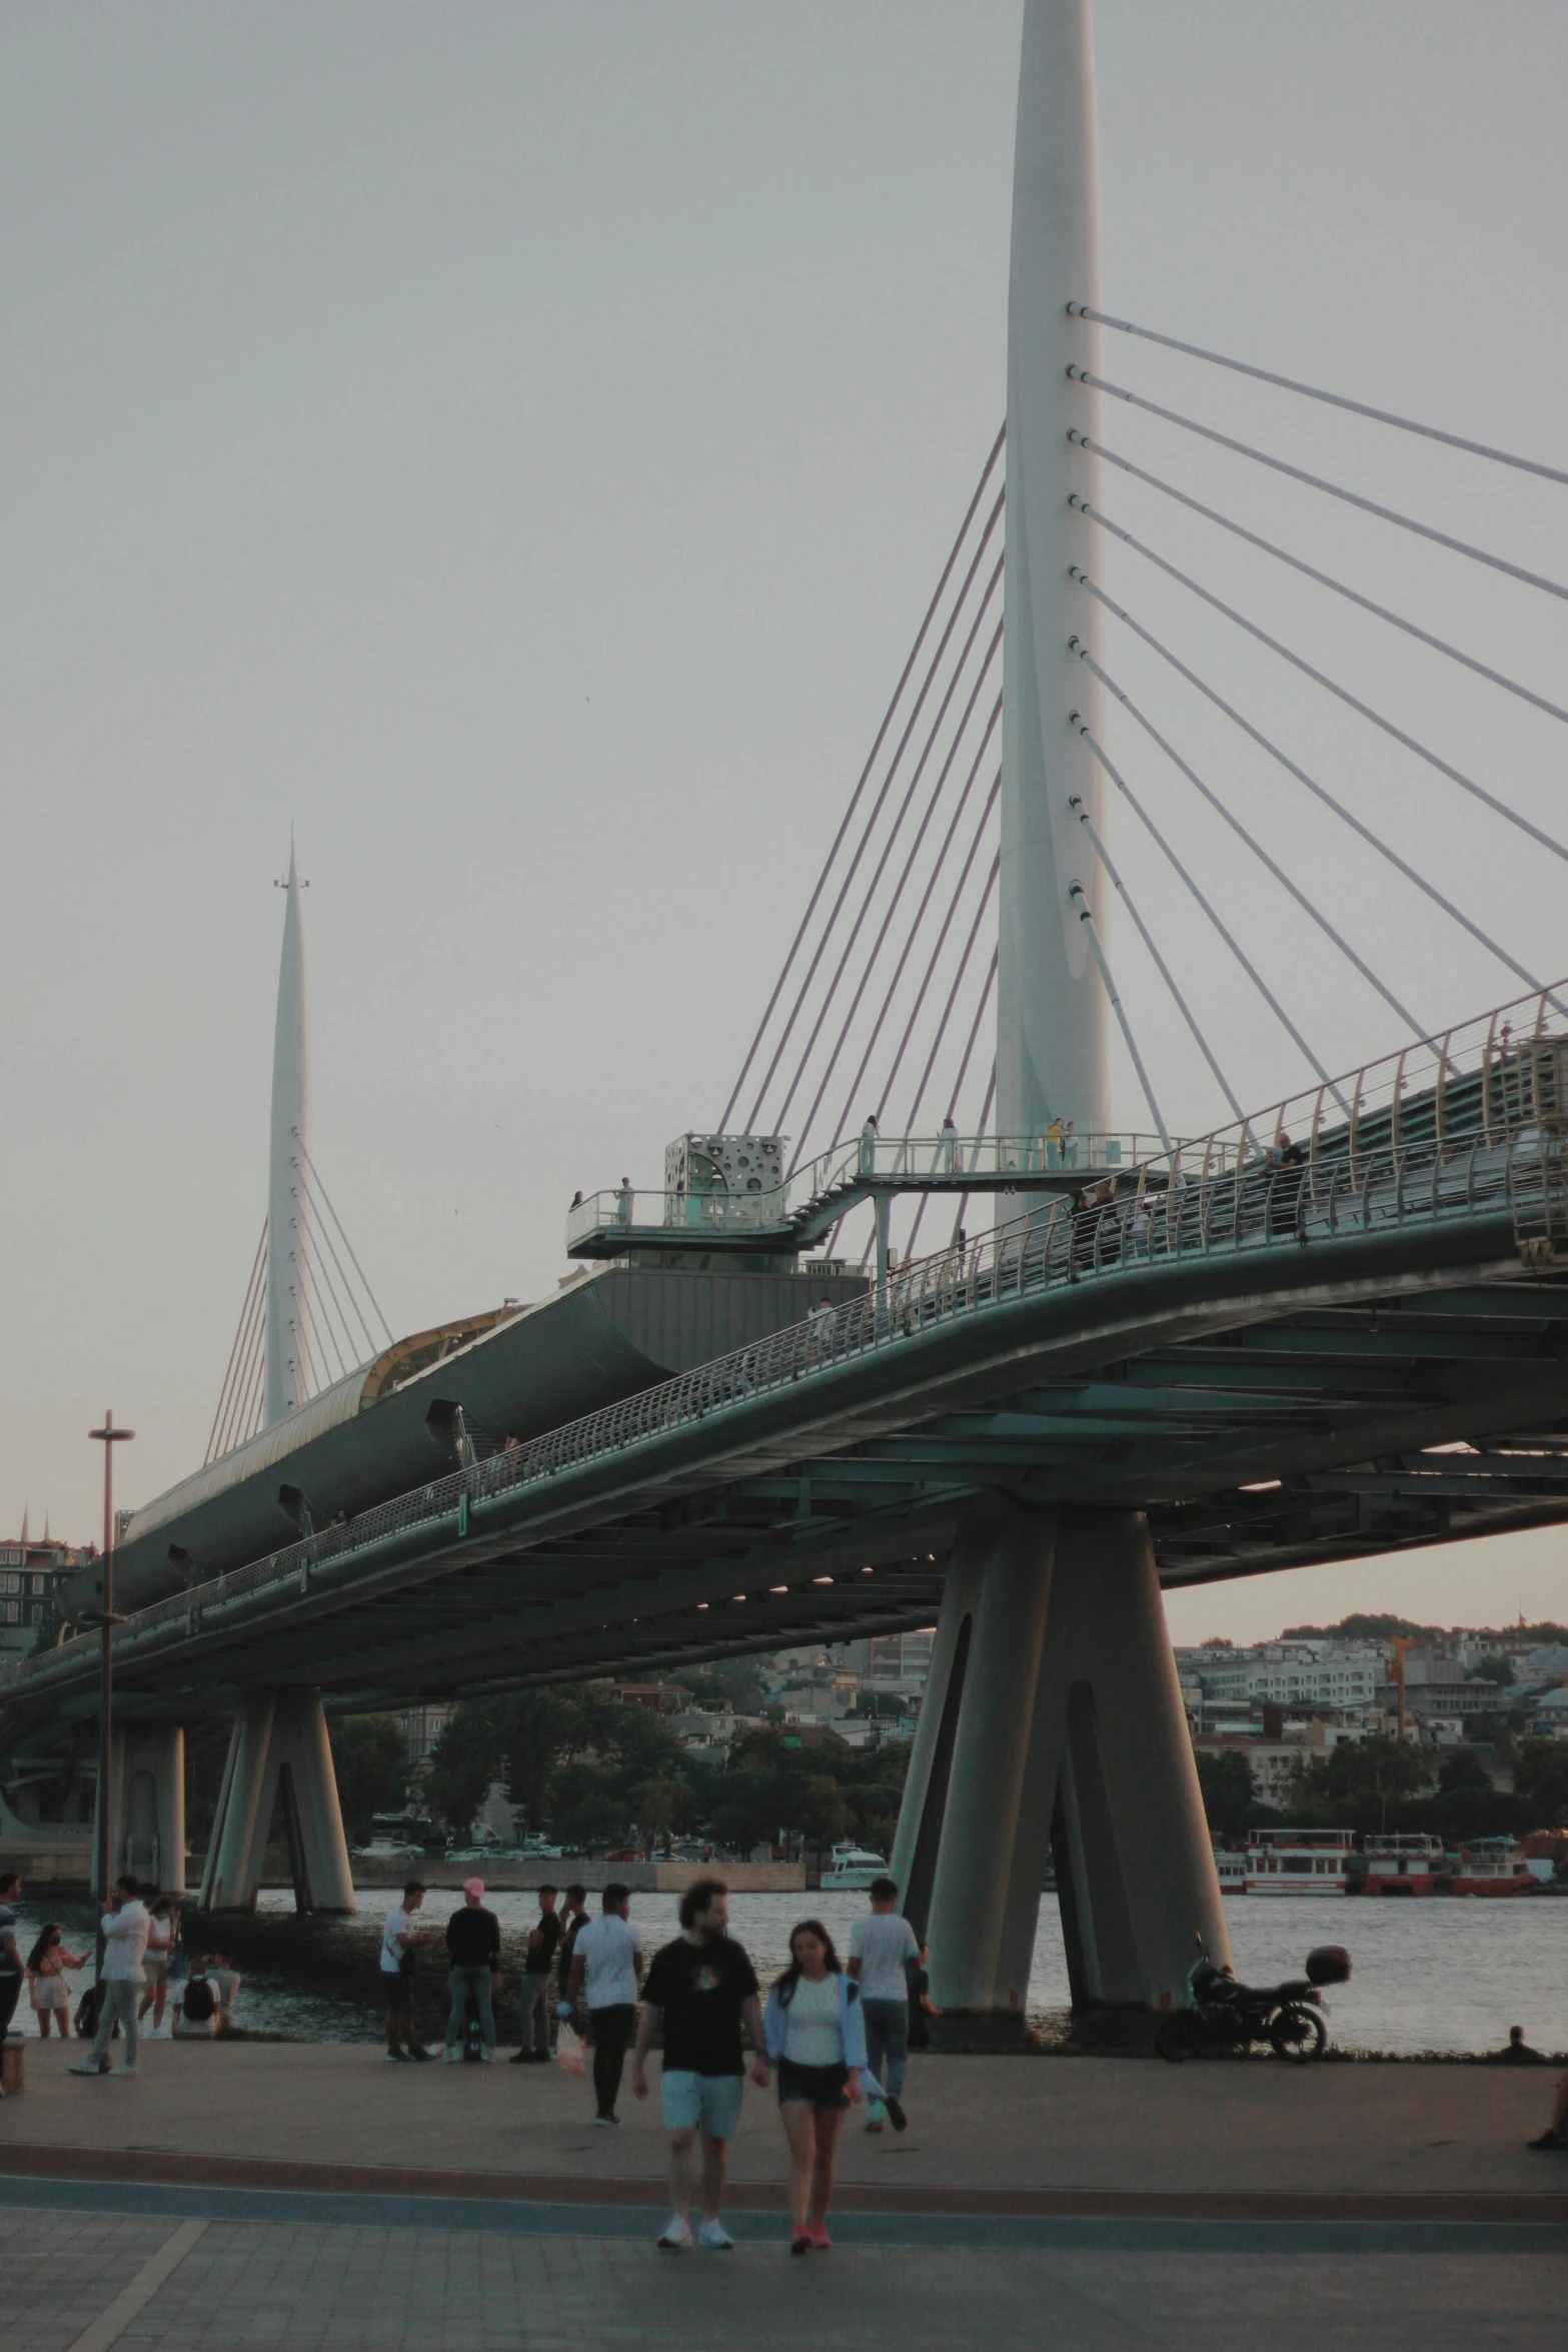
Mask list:
[[[299,913],[299,870],[289,837],[289,880],[277,971],[277,1030],[273,1035],[273,1148],[268,1160],[266,1251],[266,1418],[287,1411],[320,1383],[310,1350],[310,1200],[301,1167],[310,1157],[310,981],[306,927]],[[301,1152],[303,1143],[303,1152]]]

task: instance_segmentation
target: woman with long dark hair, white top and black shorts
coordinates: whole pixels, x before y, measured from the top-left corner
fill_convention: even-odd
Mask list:
[[[860,2105],[865,2018],[820,1919],[790,1931],[790,1966],[769,1992],[762,2039],[778,2067],[778,2119],[790,2143],[790,2253],[827,2251],[832,2161],[844,2114]]]

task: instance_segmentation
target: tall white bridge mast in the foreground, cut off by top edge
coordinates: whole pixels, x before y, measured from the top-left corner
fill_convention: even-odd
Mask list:
[[[1100,136],[1088,0],[1025,0],[1013,153],[1013,263],[1006,348],[1006,640],[1001,680],[1001,938],[997,971],[997,1134],[1039,1134],[1053,1117],[1110,1127],[1105,993],[1067,891],[1084,858],[1070,809],[1081,795],[1100,830],[1100,771],[1067,724],[1098,724],[1103,689],[1067,652],[1100,654],[1093,597],[1067,564],[1095,572],[1093,524],[1070,492],[1098,503],[1098,459],[1067,440],[1100,437],[1100,395],[1067,365],[1100,367],[1100,329],[1067,318],[1100,308]],[[1091,880],[1091,877],[1084,877]],[[1110,894],[1105,894],[1110,896]],[[1098,901],[1095,901],[1098,908]]]

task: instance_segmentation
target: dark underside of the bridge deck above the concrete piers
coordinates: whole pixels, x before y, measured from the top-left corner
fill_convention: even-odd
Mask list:
[[[788,1461],[762,1442],[512,1541],[437,1524],[393,1569],[301,1583],[233,1630],[195,1613],[146,1663],[132,1621],[120,1705],[190,1724],[244,1686],[315,1684],[331,1708],[390,1708],[929,1625],[959,1529],[997,1508],[1145,1510],[1166,1588],[1568,1517],[1561,1277],[1267,1319],[1253,1301],[1194,1338],[1018,1369],[973,1406],[860,1437],[832,1418]],[[47,1703],[14,1693],[7,1745],[94,1712],[73,1646]]]

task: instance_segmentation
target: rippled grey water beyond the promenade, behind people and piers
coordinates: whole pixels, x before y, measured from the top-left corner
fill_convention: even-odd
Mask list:
[[[195,1950],[223,1945],[244,1973],[237,2023],[254,2032],[301,2034],[320,2042],[371,2042],[381,2030],[378,1945],[381,1919],[395,1893],[360,1889],[357,1919],[299,1919],[294,1898],[263,1893],[254,1919],[226,1919],[207,1936],[190,1924]],[[425,1919],[440,1929],[456,1903],[447,1893],[428,1898]],[[522,1938],[538,1917],[531,1893],[496,1893],[489,1907],[501,1919],[503,1983],[501,2032],[515,2020],[510,1987],[522,1966]],[[597,1900],[590,1896],[590,1907]],[[788,1957],[797,1919],[818,1917],[844,1947],[865,1910],[858,1893],[731,1896],[731,1924],[745,1943],[757,1976],[776,1976]],[[1333,2039],[1356,2051],[1486,2051],[1507,2042],[1509,2025],[1523,2025],[1540,2051],[1568,2051],[1568,1900],[1516,1896],[1507,1900],[1342,1900],[1324,1896],[1241,1896],[1225,1905],[1237,1976],[1274,1983],[1300,1976],[1314,1943],[1342,1943],[1352,1955],[1352,1980],[1328,1992]],[[26,1959],[45,1919],[61,1919],[66,1945],[92,1950],[92,1910],[80,1903],[19,1912],[16,1940]],[[632,1896],[632,1919],[649,1952],[679,1933],[677,1896]],[[73,1999],[92,1980],[92,1969],[68,1978]],[[1067,2009],[1067,1959],[1060,1915],[1051,1896],[1039,1907],[1030,2011]],[[444,1962],[421,1957],[418,2023],[437,2039],[447,2016]],[[35,2032],[24,2002],[16,2025]]]

